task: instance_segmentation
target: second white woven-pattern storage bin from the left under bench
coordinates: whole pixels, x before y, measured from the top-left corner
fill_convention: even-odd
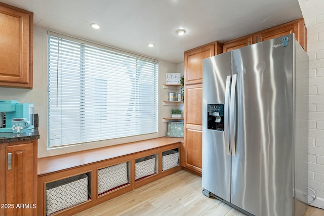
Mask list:
[[[127,162],[98,170],[98,194],[127,183]]]

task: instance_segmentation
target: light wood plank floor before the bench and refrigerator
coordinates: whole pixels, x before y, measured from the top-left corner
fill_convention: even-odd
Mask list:
[[[206,197],[202,190],[200,177],[180,170],[75,216],[246,215],[215,198]],[[304,216],[324,216],[324,211],[308,207]]]

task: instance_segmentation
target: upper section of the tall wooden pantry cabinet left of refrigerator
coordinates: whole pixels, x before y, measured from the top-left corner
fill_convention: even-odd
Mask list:
[[[203,82],[203,59],[222,53],[217,41],[184,52],[184,82],[196,84]]]

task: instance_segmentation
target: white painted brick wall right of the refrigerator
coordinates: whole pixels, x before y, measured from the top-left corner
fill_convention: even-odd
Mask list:
[[[308,187],[317,195],[311,205],[324,208],[324,1],[299,0],[299,4],[309,55]]]

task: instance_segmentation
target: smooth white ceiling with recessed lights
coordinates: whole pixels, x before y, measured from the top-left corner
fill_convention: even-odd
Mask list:
[[[34,25],[172,63],[183,52],[302,17],[298,0],[0,0]],[[90,27],[98,23],[101,29]],[[185,28],[187,33],[176,35]],[[152,42],[154,48],[146,45]]]

